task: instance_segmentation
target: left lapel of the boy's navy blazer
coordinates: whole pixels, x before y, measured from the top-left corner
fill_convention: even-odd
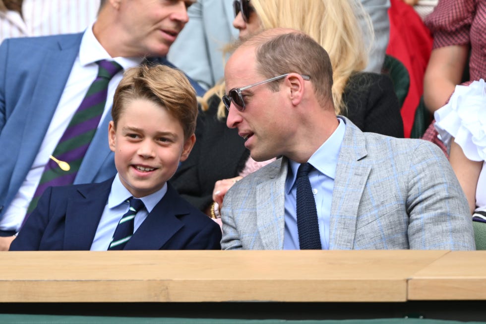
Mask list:
[[[112,183],[113,178],[100,184],[83,187],[78,189],[78,196],[68,199],[64,250],[89,251],[105,209]]]

